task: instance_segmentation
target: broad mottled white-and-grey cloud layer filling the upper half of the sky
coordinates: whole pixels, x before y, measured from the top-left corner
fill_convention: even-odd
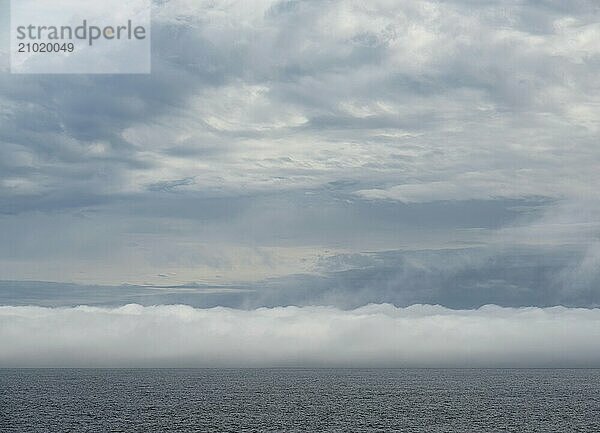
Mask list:
[[[10,212],[55,195],[86,207],[191,178],[250,195],[352,179],[417,202],[577,193],[597,178],[597,15],[593,2],[157,2],[150,76],[0,75],[0,198],[19,199]]]

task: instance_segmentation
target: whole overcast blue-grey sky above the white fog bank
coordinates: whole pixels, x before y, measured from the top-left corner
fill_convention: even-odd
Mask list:
[[[12,75],[8,7],[0,320],[600,306],[598,2],[155,1],[149,75]]]

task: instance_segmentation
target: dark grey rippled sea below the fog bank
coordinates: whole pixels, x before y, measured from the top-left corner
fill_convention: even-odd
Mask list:
[[[600,432],[600,370],[0,370],[0,432]]]

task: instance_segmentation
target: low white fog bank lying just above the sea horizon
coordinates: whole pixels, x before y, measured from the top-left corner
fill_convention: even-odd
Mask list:
[[[0,307],[0,366],[600,366],[600,309]]]

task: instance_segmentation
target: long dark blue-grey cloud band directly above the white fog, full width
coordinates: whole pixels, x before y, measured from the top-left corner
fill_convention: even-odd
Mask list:
[[[268,267],[270,259],[264,260],[262,266]],[[597,264],[597,245],[583,250],[577,245],[504,249],[481,246],[350,253],[321,256],[310,273],[279,277],[267,273],[270,278],[237,284],[85,286],[3,281],[0,305],[138,303],[243,309],[331,305],[352,309],[374,302],[400,307],[439,304],[456,309],[486,304],[597,308]],[[157,277],[154,281],[170,281],[168,274]]]

